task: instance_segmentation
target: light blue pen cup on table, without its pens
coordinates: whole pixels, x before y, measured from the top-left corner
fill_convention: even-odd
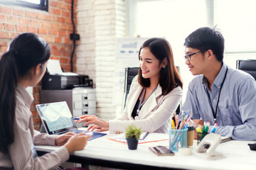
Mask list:
[[[182,130],[169,130],[169,149],[178,152],[178,147],[187,147],[188,128]]]

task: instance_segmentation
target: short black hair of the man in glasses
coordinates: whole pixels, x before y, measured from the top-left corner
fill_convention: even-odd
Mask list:
[[[202,53],[212,50],[219,62],[223,62],[224,53],[223,35],[215,28],[198,28],[185,39],[186,47],[196,48]]]

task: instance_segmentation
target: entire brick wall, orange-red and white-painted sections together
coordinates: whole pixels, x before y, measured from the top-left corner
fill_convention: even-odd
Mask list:
[[[0,3],[0,55],[20,33],[36,33],[48,41],[51,58],[59,59],[64,71],[70,71],[73,50],[69,39],[73,26],[71,0],[50,0],[49,11],[40,11]],[[76,0],[75,23],[80,41],[74,57],[74,72],[87,74],[96,88],[97,115],[105,120],[116,117],[119,106],[113,104],[116,38],[125,35],[124,0]],[[77,56],[77,57],[76,57]],[[41,86],[33,88],[31,106],[36,129],[40,119],[35,105],[39,103]],[[117,109],[118,108],[118,109]]]

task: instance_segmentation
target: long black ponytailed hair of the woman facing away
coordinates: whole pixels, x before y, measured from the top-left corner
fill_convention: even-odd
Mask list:
[[[50,47],[33,33],[23,33],[12,40],[0,60],[0,152],[8,153],[14,142],[14,118],[18,79],[50,58]]]

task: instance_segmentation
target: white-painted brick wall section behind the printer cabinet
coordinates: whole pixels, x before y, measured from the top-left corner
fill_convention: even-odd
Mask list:
[[[97,115],[105,120],[119,111],[112,102],[115,42],[125,36],[125,9],[124,0],[78,0],[77,70],[93,79]]]

